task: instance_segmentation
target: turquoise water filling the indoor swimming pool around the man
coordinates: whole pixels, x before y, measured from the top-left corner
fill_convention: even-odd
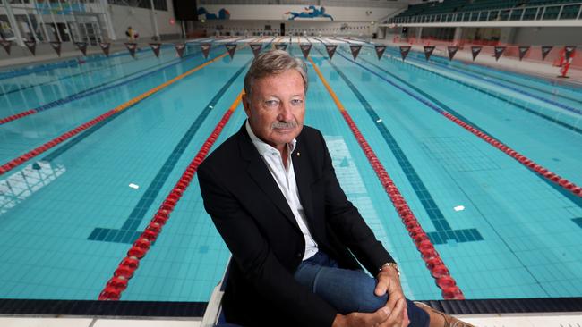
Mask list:
[[[431,235],[466,298],[582,296],[580,199],[421,102],[478,126],[580,185],[582,115],[576,109],[581,89],[438,58],[426,63],[422,54],[410,54],[402,63],[392,49],[378,61],[370,46],[354,62],[341,44],[330,62],[319,41],[310,41],[314,63]],[[252,60],[243,45],[234,59],[210,63],[97,129],[0,175],[0,298],[98,297],[133,236],[143,231],[242,90]],[[287,50],[301,55],[296,43]],[[224,52],[215,41],[209,58]],[[201,63],[199,46],[191,45],[183,60],[166,47],[159,59],[144,49],[137,59],[120,54],[14,77],[0,72],[0,119],[45,108],[0,125],[0,163]],[[305,121],[322,131],[347,196],[401,265],[407,296],[441,298],[312,68],[309,78]],[[79,98],[72,100],[74,95]],[[243,122],[239,105],[216,145]],[[464,210],[454,209],[459,205]],[[194,179],[122,299],[206,302],[228,256]]]

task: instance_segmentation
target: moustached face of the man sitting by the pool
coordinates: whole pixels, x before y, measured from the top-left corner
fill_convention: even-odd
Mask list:
[[[254,134],[279,151],[303,129],[304,80],[298,71],[255,80],[243,103]]]

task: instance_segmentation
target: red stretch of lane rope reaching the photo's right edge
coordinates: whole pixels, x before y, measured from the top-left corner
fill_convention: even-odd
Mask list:
[[[527,158],[525,155],[518,153],[518,151],[512,149],[511,147],[506,146],[505,144],[501,143],[500,141],[498,141],[495,138],[492,138],[491,136],[484,133],[483,131],[475,129],[475,127],[458,119],[456,116],[454,116],[450,113],[447,113],[447,112],[442,112],[441,114],[443,116],[447,117],[450,121],[455,122],[456,124],[458,124],[459,126],[464,128],[465,130],[468,130],[469,132],[473,133],[477,138],[483,139],[485,142],[491,144],[493,147],[497,147],[505,154],[513,157],[520,164],[523,164],[527,168],[529,168],[530,170],[542,175],[543,178],[545,178],[546,180],[551,180],[553,183],[561,186],[561,188],[569,190],[570,192],[574,193],[574,195],[576,195],[578,197],[582,197],[582,188],[580,188],[574,182],[561,177],[560,175],[558,175],[555,172],[551,172],[547,168],[543,167],[541,164],[536,164],[533,160]]]

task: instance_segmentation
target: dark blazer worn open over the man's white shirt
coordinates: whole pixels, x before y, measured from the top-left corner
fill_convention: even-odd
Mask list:
[[[340,267],[362,264],[372,275],[393,261],[340,188],[319,130],[304,126],[292,160],[320,250]],[[223,298],[227,321],[331,326],[337,310],[293,277],[304,236],[244,124],[201,164],[198,178],[204,207],[233,255]]]

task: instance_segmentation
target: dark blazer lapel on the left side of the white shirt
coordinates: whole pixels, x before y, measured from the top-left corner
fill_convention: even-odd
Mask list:
[[[241,147],[241,155],[244,160],[248,162],[247,172],[254,180],[259,188],[270,198],[270,200],[277,205],[279,211],[291,222],[297,229],[299,225],[295,220],[295,216],[291,212],[291,208],[287,204],[287,200],[278,188],[277,182],[271,176],[269,168],[264,163],[257,151],[257,148],[252,144],[251,138],[243,124],[243,128],[238,131],[239,144]]]

